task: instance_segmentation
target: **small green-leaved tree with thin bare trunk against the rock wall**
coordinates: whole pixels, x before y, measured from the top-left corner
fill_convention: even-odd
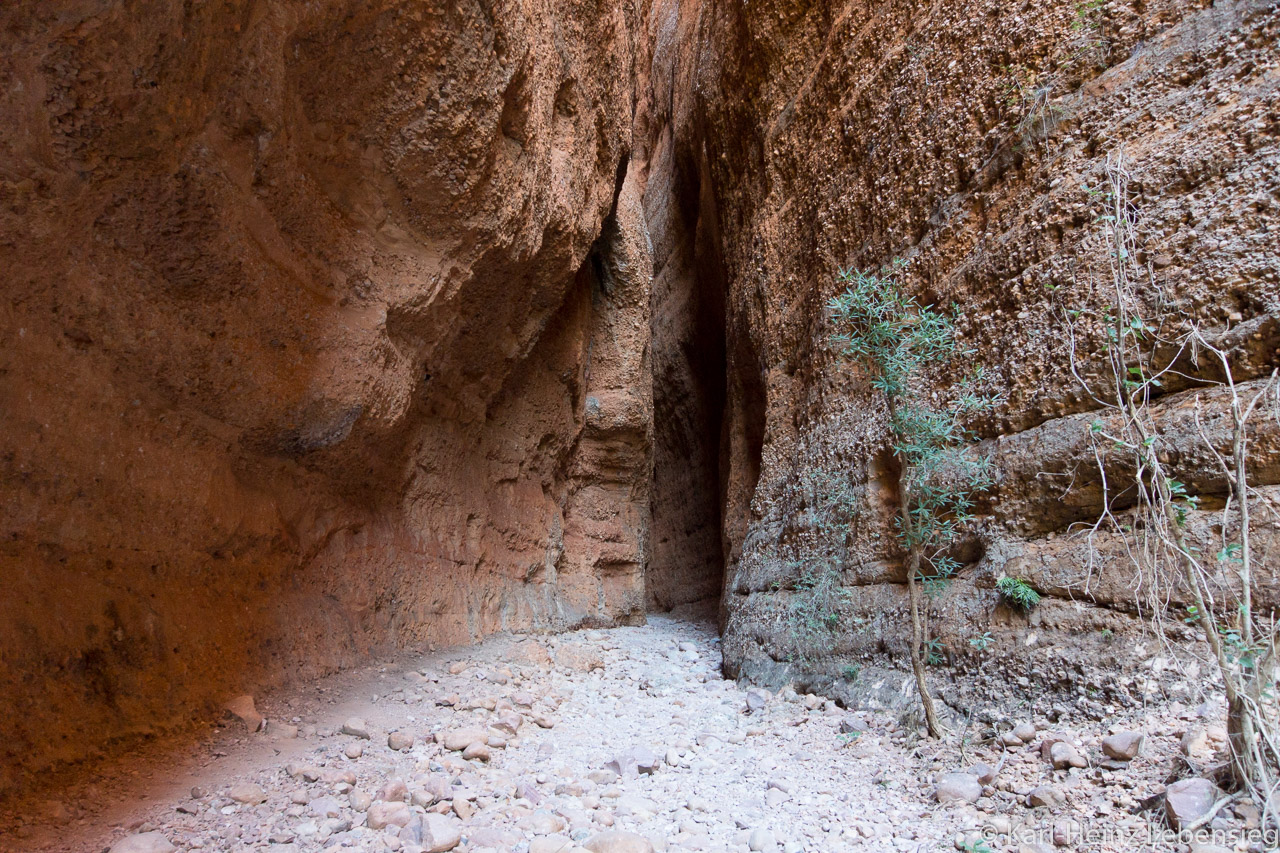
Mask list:
[[[968,452],[964,419],[996,400],[977,392],[977,371],[951,386],[942,406],[925,402],[933,391],[927,371],[973,351],[956,343],[948,318],[902,291],[900,270],[896,263],[876,273],[840,274],[845,289],[829,304],[832,341],[841,357],[867,371],[888,412],[899,461],[896,524],[906,551],[911,670],[928,733],[941,736],[945,729],[924,671],[929,630],[923,598],[960,567],[947,552],[972,517],[973,497],[992,484],[987,461]]]

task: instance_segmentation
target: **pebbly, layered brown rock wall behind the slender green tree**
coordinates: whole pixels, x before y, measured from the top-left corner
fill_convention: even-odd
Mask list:
[[[659,49],[678,45],[655,115],[712,187],[703,206],[727,295],[727,669],[854,703],[910,699],[901,670],[858,678],[906,660],[897,461],[884,405],[836,357],[827,319],[841,269],[895,260],[906,291],[954,316],[975,351],[927,393],[982,366],[1002,400],[966,425],[997,485],[955,552],[956,579],[929,599],[945,698],[961,690],[948,672],[998,667],[1007,678],[988,698],[1036,684],[1074,699],[1100,666],[1149,663],[1123,543],[1101,537],[1091,555],[1079,533],[1102,506],[1098,415],[1070,373],[1066,319],[1114,298],[1100,216],[1107,159],[1123,152],[1152,321],[1198,324],[1251,388],[1277,364],[1275,4],[709,4],[695,22],[676,8],[650,19]],[[658,186],[650,175],[649,193]],[[1084,373],[1102,341],[1082,330]],[[1197,379],[1220,375],[1203,360],[1180,369],[1190,378],[1170,377],[1156,403],[1161,441],[1203,498],[1190,529],[1213,553],[1226,487],[1193,401]],[[1222,448],[1222,397],[1207,394]],[[1265,508],[1280,457],[1275,421],[1257,429]],[[1263,607],[1280,601],[1276,521],[1256,523]],[[1046,594],[1029,620],[1000,603],[1005,574]],[[1175,588],[1171,606],[1187,601]],[[1190,635],[1180,620],[1171,630]],[[1137,701],[1123,680],[1088,701]]]

